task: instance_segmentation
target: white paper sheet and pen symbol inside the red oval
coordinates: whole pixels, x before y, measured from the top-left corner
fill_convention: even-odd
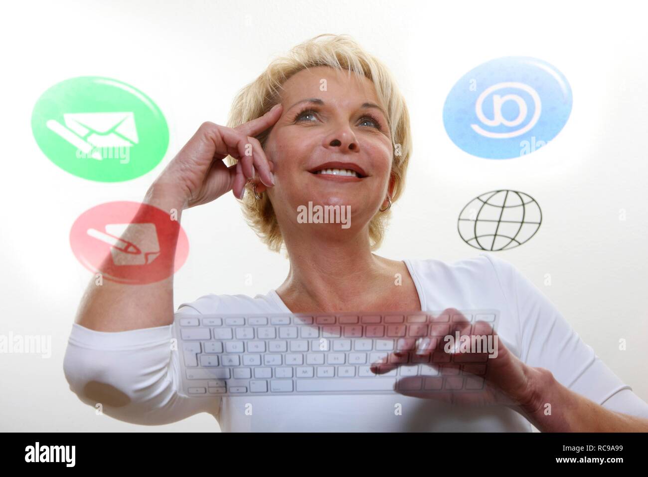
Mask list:
[[[91,237],[112,245],[115,265],[148,265],[160,254],[156,225],[153,223],[106,224],[106,232],[89,228]]]

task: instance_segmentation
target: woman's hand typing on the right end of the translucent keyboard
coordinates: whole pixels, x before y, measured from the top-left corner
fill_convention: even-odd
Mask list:
[[[422,363],[437,369],[437,376],[399,378],[395,386],[397,393],[443,400],[450,404],[503,405],[524,415],[534,413],[542,405],[537,383],[544,370],[524,364],[498,339],[489,323],[470,323],[461,312],[448,308],[438,317],[433,317],[433,322],[428,327],[432,330],[433,326],[436,329],[448,329],[449,334],[430,336],[428,333],[428,336],[417,339],[415,343],[413,339],[401,342],[399,350],[391,352],[384,360],[373,363],[371,371],[384,374],[403,365]],[[459,343],[456,343],[457,331]],[[492,343],[494,349],[489,345],[490,350],[487,348],[477,352],[480,349],[472,349],[469,345],[467,350],[461,350],[460,345],[465,339],[463,336],[471,337],[469,343],[476,343],[472,337],[486,337],[486,343]],[[453,342],[454,352],[451,349]],[[441,380],[442,377],[450,379]],[[465,384],[461,389],[450,389],[453,382],[457,387],[459,382]],[[439,385],[443,387],[426,390],[426,387]]]

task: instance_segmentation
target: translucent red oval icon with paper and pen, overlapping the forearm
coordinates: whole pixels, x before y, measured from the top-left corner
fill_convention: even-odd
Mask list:
[[[164,280],[189,255],[174,211],[140,202],[106,202],[86,210],[72,225],[70,245],[89,271],[124,284]]]

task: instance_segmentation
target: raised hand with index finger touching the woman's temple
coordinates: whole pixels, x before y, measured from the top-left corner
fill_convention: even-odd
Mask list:
[[[281,103],[275,104],[263,116],[235,128],[203,123],[162,171],[154,188],[165,195],[178,195],[173,199],[189,208],[211,202],[230,190],[242,199],[248,178],[255,172],[263,184],[274,186],[272,162],[254,136],[272,127],[282,110]],[[237,159],[237,164],[227,167],[223,162],[227,155]]]

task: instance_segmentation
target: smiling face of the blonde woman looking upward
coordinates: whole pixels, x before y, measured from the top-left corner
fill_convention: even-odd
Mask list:
[[[351,227],[357,230],[386,203],[393,156],[373,83],[319,66],[299,71],[283,87],[283,112],[264,147],[273,162],[275,187],[268,193],[279,223],[298,223],[297,207],[312,201],[351,206]],[[327,162],[353,164],[364,177],[311,172]]]

